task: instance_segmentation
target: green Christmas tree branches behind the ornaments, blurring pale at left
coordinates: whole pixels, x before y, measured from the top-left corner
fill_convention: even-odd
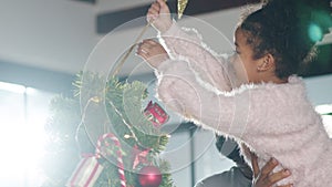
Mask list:
[[[45,169],[49,180],[44,186],[64,186],[80,160],[80,152],[94,152],[91,143],[95,145],[95,142],[87,137],[85,129],[90,134],[113,133],[122,145],[122,147],[103,147],[110,154],[105,156],[106,159],[102,159],[104,169],[94,186],[120,186],[116,162],[110,162],[116,160],[115,153],[118,149],[123,154],[124,165],[127,168],[125,170],[127,186],[139,186],[137,173],[149,164],[157,166],[163,173],[160,187],[174,186],[169,164],[158,158],[158,154],[168,143],[168,136],[156,128],[143,113],[148,94],[146,85],[142,82],[120,82],[116,77],[105,79],[94,73],[80,73],[73,85],[74,98],[55,97],[51,104],[53,115],[46,125],[50,135],[46,163],[52,166]],[[91,98],[97,100],[91,104],[92,106],[98,104],[105,106],[108,122],[93,124],[86,128],[84,121],[81,123],[81,120],[84,116],[84,103],[89,103]],[[105,126],[106,132],[103,132]],[[76,135],[80,149],[75,139]],[[112,142],[108,144],[112,145]],[[133,147],[142,150],[148,149],[146,158],[148,163],[139,163],[133,168]]]

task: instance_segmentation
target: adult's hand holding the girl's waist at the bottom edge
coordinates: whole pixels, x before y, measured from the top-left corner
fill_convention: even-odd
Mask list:
[[[289,177],[291,174],[288,169],[272,173],[274,167],[278,166],[278,162],[271,158],[261,169],[258,166],[257,156],[251,154],[251,164],[253,169],[253,185],[252,187],[272,187],[276,183]],[[292,185],[284,185],[278,187],[292,187]]]

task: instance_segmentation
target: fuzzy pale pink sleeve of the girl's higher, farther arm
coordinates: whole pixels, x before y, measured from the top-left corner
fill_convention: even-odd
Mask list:
[[[219,91],[230,91],[227,59],[218,56],[204,44],[194,29],[180,29],[176,22],[164,33],[159,33],[163,45],[172,59],[190,62],[201,83]]]

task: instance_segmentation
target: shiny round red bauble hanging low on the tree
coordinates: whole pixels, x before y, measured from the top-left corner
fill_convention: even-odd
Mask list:
[[[155,166],[145,166],[139,170],[138,181],[142,187],[158,187],[162,179],[162,173]]]

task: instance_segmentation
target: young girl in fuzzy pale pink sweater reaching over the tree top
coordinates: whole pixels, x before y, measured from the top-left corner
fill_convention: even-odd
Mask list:
[[[157,96],[168,107],[243,142],[260,166],[274,157],[289,168],[292,175],[278,185],[331,186],[332,142],[307,98],[303,81],[293,75],[315,43],[307,34],[310,21],[323,32],[331,27],[329,6],[328,0],[273,0],[249,14],[235,32],[232,65],[237,77],[247,79],[238,89],[231,89],[225,60],[181,31],[163,0],[147,15],[172,60],[153,58],[157,52],[152,40],[139,45],[138,54],[156,69]]]

